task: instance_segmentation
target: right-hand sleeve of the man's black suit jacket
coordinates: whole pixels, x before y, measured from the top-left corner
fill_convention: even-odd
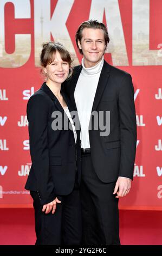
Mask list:
[[[125,78],[122,80],[118,104],[121,139],[119,176],[133,180],[137,125],[134,105],[134,88],[132,77],[129,74],[126,74]]]

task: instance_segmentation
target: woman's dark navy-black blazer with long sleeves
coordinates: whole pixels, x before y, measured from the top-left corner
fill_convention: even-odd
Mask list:
[[[69,111],[73,111],[67,95],[63,94],[63,98]],[[27,105],[32,166],[25,185],[27,190],[37,191],[42,205],[53,201],[57,195],[67,195],[72,192],[76,157],[80,182],[79,131],[77,131],[76,144],[73,130],[63,128],[54,131],[51,127],[54,121],[51,114],[54,111],[60,111],[64,118],[65,112],[60,102],[47,84],[43,83],[42,87],[30,97]],[[71,125],[69,120],[68,125]]]

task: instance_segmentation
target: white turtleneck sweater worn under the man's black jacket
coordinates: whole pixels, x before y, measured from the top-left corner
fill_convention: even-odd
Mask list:
[[[103,58],[92,68],[85,68],[84,59],[82,59],[82,67],[81,74],[76,84],[74,97],[81,125],[81,148],[86,149],[90,148],[88,127],[94,96],[103,67]]]

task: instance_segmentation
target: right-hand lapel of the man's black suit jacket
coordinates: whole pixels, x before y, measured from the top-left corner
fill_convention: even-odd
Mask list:
[[[103,68],[101,70],[101,74],[100,74],[100,78],[99,78],[98,87],[96,89],[96,93],[95,93],[95,97],[94,97],[92,112],[95,111],[95,109],[97,108],[97,106],[99,104],[99,101],[103,94],[103,90],[105,89],[108,78],[109,78],[109,64],[104,60]]]

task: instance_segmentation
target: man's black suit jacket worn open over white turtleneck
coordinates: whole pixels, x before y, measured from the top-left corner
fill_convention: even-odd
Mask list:
[[[69,95],[75,109],[74,91],[81,70],[81,65],[76,66],[72,79],[63,84],[63,90]],[[108,136],[101,137],[101,130],[94,130],[93,125],[92,130],[89,130],[91,157],[96,174],[103,182],[116,181],[118,176],[133,179],[137,129],[132,78],[105,60],[93,111],[110,111]]]

